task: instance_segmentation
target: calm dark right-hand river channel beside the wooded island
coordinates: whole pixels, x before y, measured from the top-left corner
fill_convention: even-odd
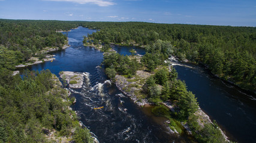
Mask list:
[[[233,141],[256,142],[256,99],[213,77],[203,67],[182,65],[174,66],[178,77],[185,80],[201,109],[216,120]]]

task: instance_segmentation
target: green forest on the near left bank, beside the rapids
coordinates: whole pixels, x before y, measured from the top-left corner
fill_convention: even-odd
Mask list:
[[[88,129],[79,126],[67,91],[56,86],[49,70],[26,71],[21,78],[0,69],[0,142],[51,142],[55,136],[71,136],[76,142],[93,142]],[[76,129],[71,133],[71,129]]]

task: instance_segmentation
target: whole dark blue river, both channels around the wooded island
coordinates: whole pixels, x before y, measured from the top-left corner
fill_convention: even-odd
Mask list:
[[[82,123],[91,130],[100,142],[189,142],[186,136],[170,135],[163,125],[155,122],[148,111],[135,105],[119,91],[115,84],[107,80],[100,64],[103,53],[83,46],[83,36],[96,30],[79,27],[68,32],[71,45],[62,51],[53,52],[56,60],[28,67],[29,70],[49,69],[59,76],[59,71],[86,72],[82,89],[71,89],[76,97],[76,110]],[[120,54],[130,54],[134,48],[143,55],[144,49],[138,47],[115,46]],[[252,100],[239,90],[225,85],[211,77],[204,69],[174,66],[179,78],[185,80],[188,89],[198,98],[202,110],[228,132],[228,136],[239,142],[255,142],[256,107]],[[101,110],[95,107],[104,106]]]

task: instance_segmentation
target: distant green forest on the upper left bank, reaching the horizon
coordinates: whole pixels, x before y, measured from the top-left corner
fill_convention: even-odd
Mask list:
[[[76,21],[0,19],[0,67],[14,69],[47,46],[62,47],[67,36],[56,31],[78,26]]]

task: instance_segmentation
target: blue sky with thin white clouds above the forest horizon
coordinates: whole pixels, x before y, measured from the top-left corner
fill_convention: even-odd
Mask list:
[[[256,0],[0,0],[0,18],[256,26]]]

